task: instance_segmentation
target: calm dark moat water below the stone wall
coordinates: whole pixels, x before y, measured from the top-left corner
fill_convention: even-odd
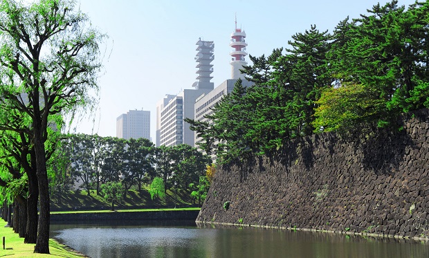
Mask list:
[[[51,225],[51,237],[90,257],[429,257],[429,243],[195,223]]]

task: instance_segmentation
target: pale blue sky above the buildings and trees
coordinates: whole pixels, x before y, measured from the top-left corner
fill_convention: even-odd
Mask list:
[[[76,8],[109,38],[102,43],[100,100],[93,113],[73,124],[79,133],[116,136],[116,118],[129,110],[148,110],[156,141],[156,103],[166,94],[193,89],[196,43],[215,42],[215,87],[230,79],[230,34],[246,32],[247,52],[259,57],[288,48],[296,33],[315,24],[332,32],[347,16],[366,14],[376,0],[80,0]],[[382,5],[387,1],[381,1]],[[414,0],[399,0],[409,6]],[[246,60],[249,61],[248,57]],[[249,62],[250,64],[250,62]]]

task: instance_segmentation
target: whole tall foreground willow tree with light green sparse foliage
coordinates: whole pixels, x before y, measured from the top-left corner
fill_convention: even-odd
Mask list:
[[[39,253],[49,253],[48,127],[60,126],[60,113],[95,103],[93,93],[98,91],[98,44],[104,35],[75,6],[73,0],[0,3],[0,104],[30,118],[39,188]]]

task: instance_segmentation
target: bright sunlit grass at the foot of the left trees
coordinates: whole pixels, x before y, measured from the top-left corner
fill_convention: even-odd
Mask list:
[[[0,221],[0,237],[5,237],[5,249],[0,248],[0,257],[86,257],[75,250],[64,246],[54,239],[49,239],[49,251],[51,255],[33,253],[35,243],[24,243],[24,238],[13,232],[12,228],[4,228],[6,221]]]

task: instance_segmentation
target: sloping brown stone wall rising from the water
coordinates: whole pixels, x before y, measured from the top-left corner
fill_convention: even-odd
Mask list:
[[[219,168],[197,222],[429,236],[429,111]],[[223,204],[229,202],[228,210]]]

